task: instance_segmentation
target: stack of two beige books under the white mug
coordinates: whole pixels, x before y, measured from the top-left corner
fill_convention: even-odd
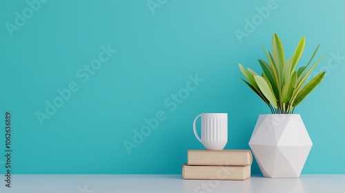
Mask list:
[[[184,179],[245,180],[250,178],[250,150],[188,150]]]

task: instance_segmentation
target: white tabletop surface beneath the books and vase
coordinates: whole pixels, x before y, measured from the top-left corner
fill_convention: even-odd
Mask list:
[[[299,179],[267,179],[252,176],[246,181],[184,180],[181,175],[41,175],[14,174],[12,187],[1,193],[107,193],[107,192],[257,192],[345,193],[345,174],[302,175]]]

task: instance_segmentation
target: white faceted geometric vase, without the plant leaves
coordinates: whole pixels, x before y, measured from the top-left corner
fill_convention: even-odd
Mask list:
[[[249,141],[268,178],[298,178],[313,143],[299,114],[260,114]]]

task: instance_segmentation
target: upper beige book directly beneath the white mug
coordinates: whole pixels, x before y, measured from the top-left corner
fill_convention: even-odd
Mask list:
[[[250,150],[188,150],[188,165],[251,165]]]

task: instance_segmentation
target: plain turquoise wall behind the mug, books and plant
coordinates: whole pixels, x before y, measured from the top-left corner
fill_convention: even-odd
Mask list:
[[[226,148],[248,149],[257,117],[270,110],[239,80],[238,63],[260,71],[260,43],[270,50],[277,33],[288,55],[306,37],[299,65],[318,44],[317,57],[326,54],[315,68],[324,81],[295,110],[314,143],[303,173],[344,174],[344,7],[0,1],[0,152],[5,112],[14,174],[179,174],[186,150],[203,148],[192,129],[201,112],[227,112]],[[1,173],[4,163],[0,156]]]

